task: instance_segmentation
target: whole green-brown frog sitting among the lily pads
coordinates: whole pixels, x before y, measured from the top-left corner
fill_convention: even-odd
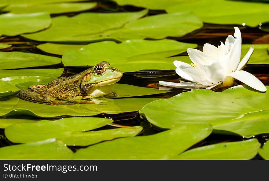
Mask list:
[[[19,98],[50,105],[97,104],[96,98],[114,93],[113,85],[122,75],[120,70],[103,61],[76,75],[61,76],[45,85],[32,85],[28,90],[21,90]]]

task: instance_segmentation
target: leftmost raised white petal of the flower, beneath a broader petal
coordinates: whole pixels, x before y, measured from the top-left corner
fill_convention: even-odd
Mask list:
[[[199,69],[194,68],[193,66],[185,62],[180,62],[180,61],[175,60],[174,65],[177,67],[175,72],[179,76],[181,76],[183,79],[186,79],[192,82],[197,82],[195,78],[203,76],[203,74],[200,73],[201,71]]]

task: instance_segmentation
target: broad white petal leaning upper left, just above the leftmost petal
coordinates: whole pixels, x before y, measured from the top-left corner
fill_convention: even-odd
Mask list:
[[[193,48],[188,48],[187,49],[188,55],[191,59],[191,61],[197,65],[210,65],[213,61],[213,59],[207,55],[205,55],[202,51],[193,49]]]

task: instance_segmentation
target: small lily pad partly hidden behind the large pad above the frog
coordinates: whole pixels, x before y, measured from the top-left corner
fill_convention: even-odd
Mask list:
[[[42,51],[47,53],[55,54],[55,55],[63,55],[69,49],[80,49],[83,44],[56,44],[56,43],[43,43],[39,44],[36,47]]]

